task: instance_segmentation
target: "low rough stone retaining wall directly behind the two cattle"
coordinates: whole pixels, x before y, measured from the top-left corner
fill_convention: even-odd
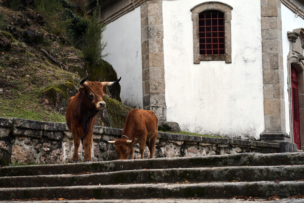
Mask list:
[[[120,138],[122,129],[95,126],[93,134],[93,161],[118,158],[115,145],[105,140]],[[65,123],[33,121],[0,117],[0,165],[28,163],[69,163],[73,156],[72,133]],[[79,147],[83,161],[84,149]],[[155,158],[181,156],[208,156],[243,152],[276,153],[278,143],[245,141],[228,138],[210,138],[158,132]],[[149,156],[146,146],[144,157]],[[140,158],[136,145],[134,159]]]

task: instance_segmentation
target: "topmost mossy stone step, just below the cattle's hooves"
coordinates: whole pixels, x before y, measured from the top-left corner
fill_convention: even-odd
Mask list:
[[[172,169],[221,166],[279,166],[301,164],[304,164],[304,152],[275,154],[241,153],[202,157],[133,159],[92,163],[5,166],[0,168],[0,177],[77,174],[81,172],[100,173],[140,169]]]

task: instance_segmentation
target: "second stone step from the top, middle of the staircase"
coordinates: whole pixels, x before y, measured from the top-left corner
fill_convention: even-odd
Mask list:
[[[132,183],[296,181],[304,165],[124,170],[91,174],[0,177],[1,187],[64,187]]]

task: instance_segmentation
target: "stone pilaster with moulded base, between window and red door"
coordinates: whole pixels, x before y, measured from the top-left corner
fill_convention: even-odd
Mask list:
[[[261,0],[261,32],[265,118],[261,141],[279,142],[282,152],[293,152],[285,124],[280,0]]]

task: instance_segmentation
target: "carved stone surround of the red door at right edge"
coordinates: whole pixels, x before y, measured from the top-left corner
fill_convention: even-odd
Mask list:
[[[290,41],[288,53],[288,99],[289,99],[289,124],[290,135],[294,142],[293,130],[293,111],[292,111],[292,75],[291,68],[295,68],[298,73],[298,95],[299,95],[299,121],[300,121],[300,146],[304,149],[304,29],[295,29],[292,32],[287,32],[287,37]]]

